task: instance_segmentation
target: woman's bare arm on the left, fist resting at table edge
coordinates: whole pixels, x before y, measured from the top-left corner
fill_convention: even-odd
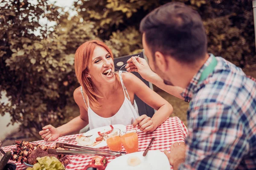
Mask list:
[[[80,115],[57,128],[52,125],[43,127],[43,130],[41,130],[39,134],[45,141],[54,141],[58,139],[58,137],[75,133],[88,125],[88,114],[87,110],[84,109],[85,104],[81,96],[80,88],[76,88],[74,91],[74,99],[76,104],[79,106]]]

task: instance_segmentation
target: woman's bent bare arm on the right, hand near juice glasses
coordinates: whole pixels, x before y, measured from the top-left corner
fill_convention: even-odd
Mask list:
[[[152,118],[142,115],[138,117],[133,125],[144,132],[152,132],[161,125],[172,114],[173,108],[165,99],[151,90],[143,81],[131,73],[122,74],[124,84],[128,91],[132,91],[143,102],[156,110]]]

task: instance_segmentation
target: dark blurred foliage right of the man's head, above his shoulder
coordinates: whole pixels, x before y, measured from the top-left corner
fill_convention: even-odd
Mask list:
[[[211,0],[200,11],[208,50],[245,70],[256,68],[252,1]]]

